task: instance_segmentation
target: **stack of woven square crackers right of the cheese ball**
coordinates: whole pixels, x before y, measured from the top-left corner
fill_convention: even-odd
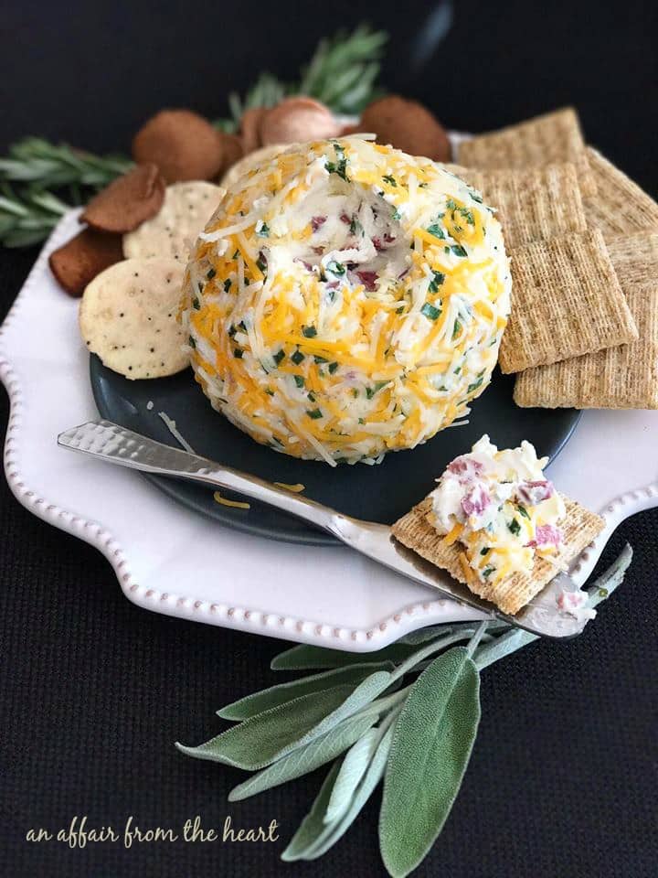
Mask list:
[[[658,408],[658,204],[585,144],[572,109],[474,137],[458,158],[511,257],[500,365],[516,404]]]

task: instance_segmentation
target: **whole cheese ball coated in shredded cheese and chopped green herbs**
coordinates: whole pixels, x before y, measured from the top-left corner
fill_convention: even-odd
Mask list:
[[[347,137],[235,181],[187,266],[212,405],[288,455],[378,463],[469,412],[510,308],[500,224],[430,159]]]

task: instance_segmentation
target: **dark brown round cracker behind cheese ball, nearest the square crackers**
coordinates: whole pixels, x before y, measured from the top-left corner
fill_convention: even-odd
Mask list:
[[[451,160],[450,140],[439,120],[422,104],[396,94],[368,104],[359,128],[376,134],[378,144],[390,144],[409,155],[425,155],[435,162]]]

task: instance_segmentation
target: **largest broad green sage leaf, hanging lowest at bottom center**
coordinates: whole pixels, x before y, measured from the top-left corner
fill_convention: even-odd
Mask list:
[[[480,722],[480,677],[465,648],[435,659],[400,712],[384,778],[379,846],[388,873],[412,872],[454,803]]]

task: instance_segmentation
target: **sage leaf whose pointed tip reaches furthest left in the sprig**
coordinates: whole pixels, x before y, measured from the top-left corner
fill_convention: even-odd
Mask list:
[[[333,715],[353,691],[353,686],[344,684],[324,692],[310,692],[252,716],[211,738],[206,744],[186,747],[176,743],[176,746],[186,755],[197,759],[209,759],[255,771],[270,765],[301,743],[307,743],[307,735],[325,717]]]

